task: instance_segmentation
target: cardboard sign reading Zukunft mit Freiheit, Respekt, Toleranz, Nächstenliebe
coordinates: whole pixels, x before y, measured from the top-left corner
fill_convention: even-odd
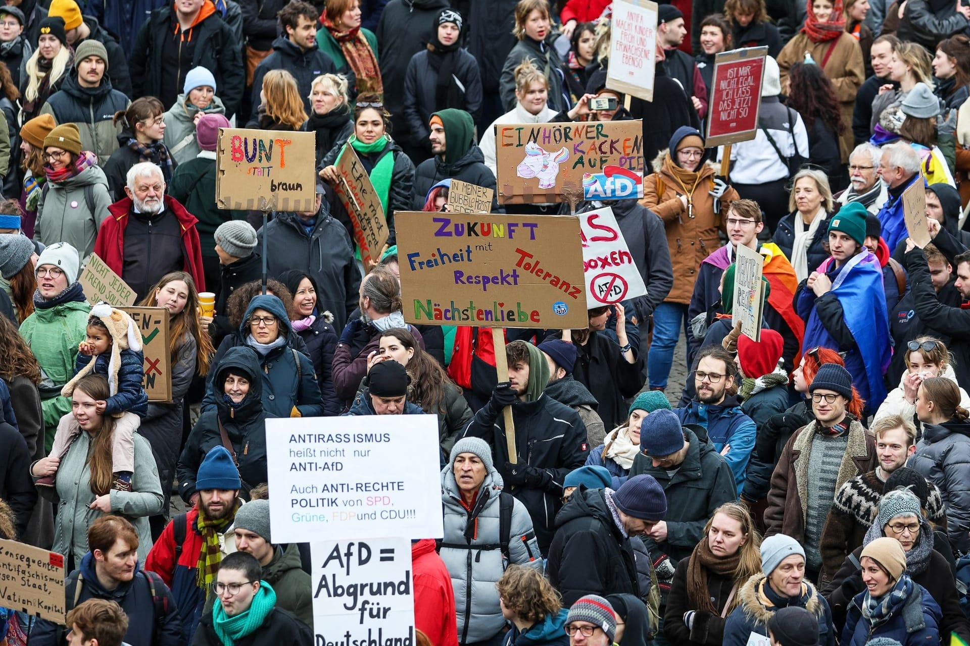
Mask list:
[[[408,323],[589,325],[575,216],[403,212],[397,222]]]

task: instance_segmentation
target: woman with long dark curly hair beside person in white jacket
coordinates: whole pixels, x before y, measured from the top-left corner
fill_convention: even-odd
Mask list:
[[[795,63],[786,83],[788,105],[798,111],[808,131],[808,161],[824,169],[833,191],[841,190],[849,182],[839,153],[839,137],[846,122],[832,81],[818,65]]]

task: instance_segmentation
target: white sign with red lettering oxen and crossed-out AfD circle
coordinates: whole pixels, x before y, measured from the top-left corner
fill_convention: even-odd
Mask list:
[[[606,207],[582,213],[579,225],[587,302],[598,307],[645,295],[647,286],[630,256],[613,209]]]

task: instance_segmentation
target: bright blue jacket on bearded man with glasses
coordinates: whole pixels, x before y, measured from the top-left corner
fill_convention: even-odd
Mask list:
[[[673,412],[680,417],[681,424],[700,424],[706,428],[707,437],[718,453],[725,445],[730,445],[724,458],[734,475],[737,493],[741,495],[758,429],[751,417],[741,411],[737,399],[726,397],[719,406],[692,401],[686,408],[674,409]]]

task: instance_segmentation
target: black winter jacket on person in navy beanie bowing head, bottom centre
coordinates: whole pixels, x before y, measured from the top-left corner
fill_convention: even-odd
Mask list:
[[[633,547],[616,526],[607,495],[612,491],[582,485],[556,514],[546,576],[565,605],[585,595],[640,597]]]

